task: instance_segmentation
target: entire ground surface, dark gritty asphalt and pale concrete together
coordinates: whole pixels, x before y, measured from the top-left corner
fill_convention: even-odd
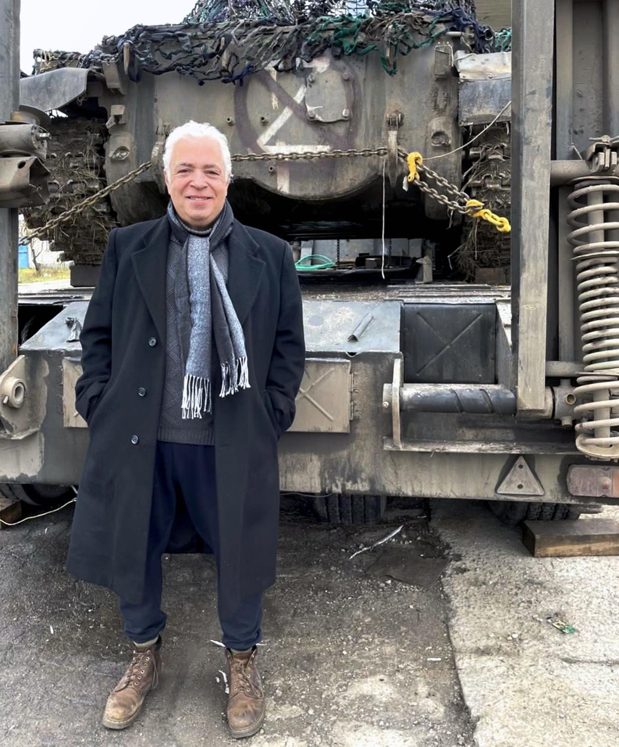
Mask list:
[[[428,521],[422,504],[394,502],[376,527],[317,524],[299,498],[282,505],[279,581],[267,593],[260,650],[267,721],[246,743],[619,742],[615,558],[533,559],[520,532],[482,503],[435,501]],[[113,595],[63,571],[70,520],[68,508],[0,532],[0,745],[234,743],[223,652],[210,642],[220,637],[214,568],[198,556],[164,560],[160,686],[128,731],[100,725],[130,649]],[[390,542],[350,559],[401,524]],[[394,552],[421,586],[370,572]],[[449,565],[432,583],[441,557]],[[577,632],[560,633],[549,616]]]

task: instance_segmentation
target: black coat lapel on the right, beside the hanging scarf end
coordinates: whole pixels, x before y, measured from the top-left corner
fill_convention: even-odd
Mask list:
[[[228,294],[243,324],[258,294],[265,263],[255,256],[258,244],[237,220],[234,220],[228,247]]]

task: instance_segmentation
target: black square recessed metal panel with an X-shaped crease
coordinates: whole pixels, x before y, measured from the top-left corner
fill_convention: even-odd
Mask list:
[[[494,303],[405,303],[403,317],[405,382],[494,384]]]

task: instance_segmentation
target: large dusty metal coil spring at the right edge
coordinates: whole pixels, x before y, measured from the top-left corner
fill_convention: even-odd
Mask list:
[[[607,220],[619,211],[615,180],[580,182],[567,198],[567,241],[576,259],[580,331],[585,371],[574,394],[586,401],[574,408],[583,416],[576,425],[576,447],[587,456],[619,458],[619,241],[609,238],[619,222]]]

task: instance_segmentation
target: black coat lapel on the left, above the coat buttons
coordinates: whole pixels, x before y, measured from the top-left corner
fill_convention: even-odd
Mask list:
[[[143,237],[144,247],[132,256],[137,285],[155,322],[161,341],[166,339],[166,270],[169,223],[158,220]]]

